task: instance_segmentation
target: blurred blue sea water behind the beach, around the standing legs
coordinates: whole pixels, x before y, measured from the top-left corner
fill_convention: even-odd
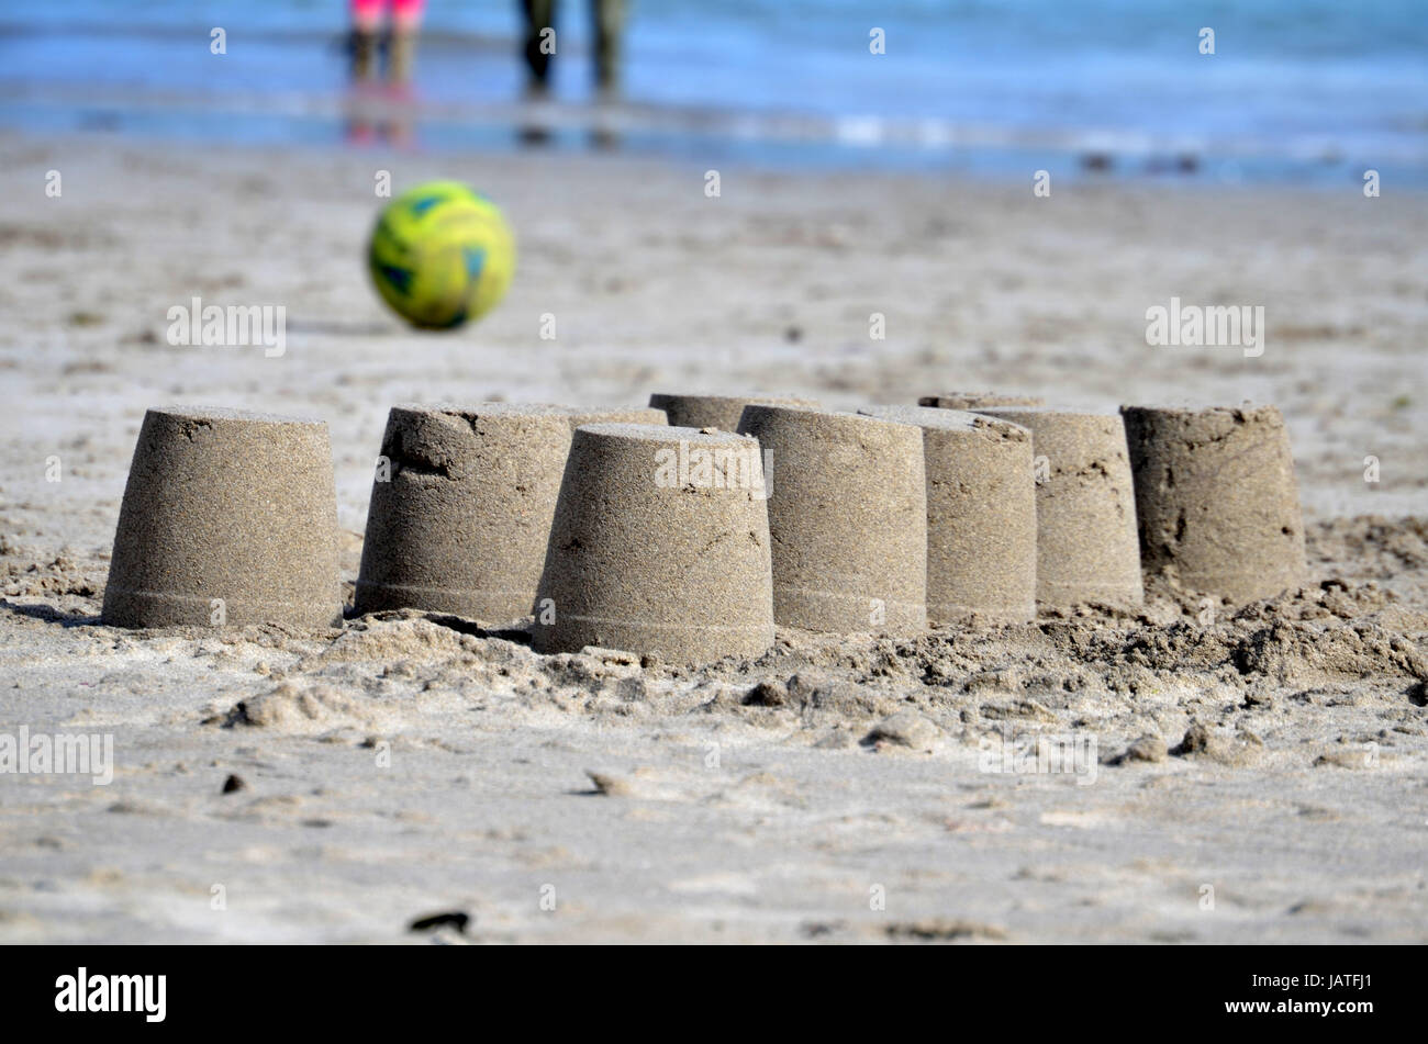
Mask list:
[[[410,91],[354,96],[343,0],[47,0],[0,13],[0,126],[922,167],[1428,184],[1428,0],[630,0],[591,104],[588,3],[521,101],[516,0],[430,0]],[[227,53],[210,53],[221,27]],[[1201,54],[1212,29],[1215,53]],[[870,50],[880,29],[885,53]]]

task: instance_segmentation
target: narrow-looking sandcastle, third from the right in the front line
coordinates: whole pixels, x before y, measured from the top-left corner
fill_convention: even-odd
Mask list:
[[[1037,486],[1031,432],[957,409],[858,411],[922,431],[927,619],[1024,623],[1037,605]]]

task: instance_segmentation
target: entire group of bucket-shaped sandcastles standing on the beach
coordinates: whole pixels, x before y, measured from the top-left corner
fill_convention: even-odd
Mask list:
[[[1142,566],[1231,603],[1304,578],[1274,406],[921,404],[394,406],[356,610],[534,616],[543,652],[698,663],[760,656],[775,623],[907,635],[1134,608]],[[151,409],[103,619],[338,623],[336,535],[326,424]]]

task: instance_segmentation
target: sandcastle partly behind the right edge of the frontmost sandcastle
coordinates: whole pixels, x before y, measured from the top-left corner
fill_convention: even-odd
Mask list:
[[[774,619],[828,632],[927,625],[922,432],[858,414],[750,405],[771,461]]]

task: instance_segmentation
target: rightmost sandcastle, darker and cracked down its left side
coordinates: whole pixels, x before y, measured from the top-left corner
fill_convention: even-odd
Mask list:
[[[1294,458],[1275,406],[1121,406],[1121,415],[1147,573],[1231,603],[1304,582]]]

